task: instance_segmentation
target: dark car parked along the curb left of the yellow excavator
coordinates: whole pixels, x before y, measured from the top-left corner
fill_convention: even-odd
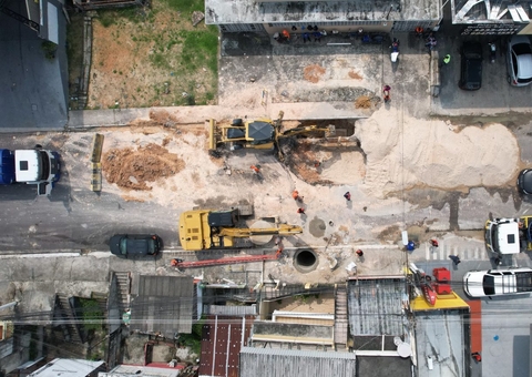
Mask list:
[[[156,255],[162,241],[156,234],[116,234],[109,241],[109,247],[111,253],[122,257]]]

